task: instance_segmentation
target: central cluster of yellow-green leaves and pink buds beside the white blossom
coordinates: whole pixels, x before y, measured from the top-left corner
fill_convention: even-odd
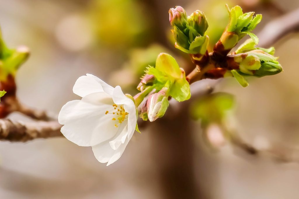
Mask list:
[[[170,97],[179,102],[190,98],[185,72],[169,54],[160,53],[155,67],[149,66],[145,73],[137,87],[141,92],[134,97],[136,105],[144,101],[139,110],[143,120],[152,122],[163,117]]]

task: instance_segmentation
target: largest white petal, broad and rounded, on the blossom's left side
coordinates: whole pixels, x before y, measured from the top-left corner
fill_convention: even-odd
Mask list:
[[[105,114],[112,108],[112,98],[105,92],[92,93],[66,103],[58,116],[64,126],[62,134],[79,146],[93,146],[115,136],[118,128],[112,114]],[[107,142],[108,143],[108,142]]]

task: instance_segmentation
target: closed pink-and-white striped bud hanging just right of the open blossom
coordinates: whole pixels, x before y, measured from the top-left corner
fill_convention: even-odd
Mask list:
[[[158,93],[154,93],[147,99],[147,116],[150,122],[163,117],[168,106],[168,88],[164,87]]]

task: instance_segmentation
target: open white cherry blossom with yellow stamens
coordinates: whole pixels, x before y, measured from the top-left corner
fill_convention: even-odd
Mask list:
[[[136,107],[123,94],[94,75],[77,79],[74,94],[58,116],[62,134],[79,146],[91,146],[94,156],[107,166],[120,158],[136,127]]]

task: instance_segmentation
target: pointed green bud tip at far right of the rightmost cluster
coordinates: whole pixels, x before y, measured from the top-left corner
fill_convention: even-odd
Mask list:
[[[264,62],[260,69],[255,71],[254,76],[263,77],[267,75],[276,75],[282,71],[282,67],[277,61]]]

